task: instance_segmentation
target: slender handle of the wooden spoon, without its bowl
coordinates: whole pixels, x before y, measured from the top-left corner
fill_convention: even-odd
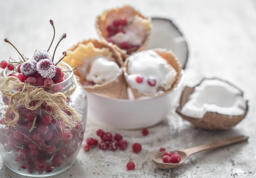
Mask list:
[[[237,136],[237,137],[228,138],[228,139],[225,139],[225,140],[222,140],[222,141],[216,141],[216,142],[213,142],[213,143],[200,145],[200,146],[197,146],[197,147],[183,149],[182,151],[186,152],[186,154],[188,156],[190,156],[191,154],[202,152],[202,151],[207,150],[207,149],[213,149],[213,148],[218,148],[218,147],[231,145],[231,144],[234,144],[234,143],[247,141],[248,138],[249,138],[248,136]]]

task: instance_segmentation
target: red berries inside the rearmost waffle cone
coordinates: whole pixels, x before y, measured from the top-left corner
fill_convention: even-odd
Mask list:
[[[126,33],[124,27],[127,25],[128,23],[125,17],[121,17],[120,20],[114,20],[113,23],[107,27],[107,41],[113,44],[117,44],[115,40],[113,40],[111,37],[117,33]],[[132,45],[128,42],[122,42],[121,44],[117,44],[117,46],[119,46],[122,49],[125,49],[128,52],[128,54],[132,53],[133,51],[136,51],[140,47],[139,45]]]

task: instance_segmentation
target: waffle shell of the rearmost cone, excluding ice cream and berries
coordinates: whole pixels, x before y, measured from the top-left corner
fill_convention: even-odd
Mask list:
[[[143,19],[150,20],[150,23],[151,23],[150,18],[146,18],[144,15],[142,15],[139,11],[136,11],[131,6],[126,5],[126,6],[121,7],[121,8],[115,8],[115,9],[110,9],[110,10],[104,11],[101,15],[99,15],[97,17],[96,24],[95,24],[100,39],[108,42],[106,40],[108,38],[107,27],[110,24],[112,24],[112,22],[114,20],[120,19],[121,17],[125,17],[128,21],[130,21],[130,20],[133,19],[133,17],[135,15],[137,15],[137,16],[143,18]],[[150,28],[152,28],[152,25],[151,25]],[[151,30],[147,32],[143,44],[134,52],[142,51],[142,50],[146,49],[146,47],[148,46],[149,40],[150,40],[150,35],[151,35]],[[117,51],[119,53],[121,53],[121,56],[122,56],[123,59],[126,59],[126,57],[128,57],[128,54],[127,54],[126,50],[119,48],[115,44],[113,44],[113,46],[115,46],[114,48],[116,48]]]

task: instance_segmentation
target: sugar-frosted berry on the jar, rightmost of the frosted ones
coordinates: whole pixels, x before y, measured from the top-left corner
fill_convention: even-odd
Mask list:
[[[56,74],[56,66],[49,59],[42,59],[36,64],[37,72],[47,79],[52,79]]]

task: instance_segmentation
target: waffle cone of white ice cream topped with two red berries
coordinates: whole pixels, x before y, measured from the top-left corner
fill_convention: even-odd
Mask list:
[[[166,94],[177,86],[182,76],[182,67],[175,55],[161,48],[130,55],[123,69],[136,99]]]

